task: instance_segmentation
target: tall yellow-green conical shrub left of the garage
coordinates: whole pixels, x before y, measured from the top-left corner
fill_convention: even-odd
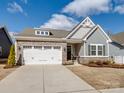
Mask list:
[[[13,67],[14,65],[15,65],[15,47],[14,45],[12,45],[10,49],[7,64],[4,68],[10,68],[10,67]]]

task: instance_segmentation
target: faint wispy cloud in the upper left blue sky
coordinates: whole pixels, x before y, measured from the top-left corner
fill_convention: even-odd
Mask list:
[[[25,16],[27,16],[27,13],[24,12],[23,8],[21,7],[21,5],[19,5],[18,3],[16,2],[12,2],[12,3],[8,3],[8,8],[7,10],[10,12],[10,13],[22,13],[24,14]]]

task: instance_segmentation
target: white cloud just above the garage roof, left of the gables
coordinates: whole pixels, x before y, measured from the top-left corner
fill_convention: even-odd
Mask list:
[[[70,30],[77,23],[78,22],[71,17],[62,14],[53,14],[52,18],[41,27]]]

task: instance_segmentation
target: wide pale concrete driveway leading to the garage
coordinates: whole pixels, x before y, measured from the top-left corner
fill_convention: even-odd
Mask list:
[[[28,65],[0,81],[0,93],[98,92],[62,65]]]

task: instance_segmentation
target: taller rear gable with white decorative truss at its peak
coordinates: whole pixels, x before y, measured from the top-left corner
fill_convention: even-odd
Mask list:
[[[81,39],[94,26],[95,26],[95,24],[92,22],[92,20],[89,17],[86,17],[83,21],[81,21],[77,26],[75,26],[72,29],[71,33],[69,35],[67,35],[66,38],[72,37],[72,38],[76,38],[76,39]]]

